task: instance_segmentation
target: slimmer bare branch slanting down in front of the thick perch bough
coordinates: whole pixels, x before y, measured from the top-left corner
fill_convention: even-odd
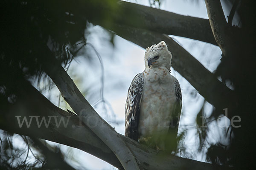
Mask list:
[[[54,58],[49,48],[46,49],[46,53]],[[47,62],[47,66],[44,67],[44,69],[58,87],[65,101],[67,101],[73,111],[76,112],[82,122],[115,153],[124,169],[142,169],[139,167],[132,150],[126,146],[125,142],[123,142],[113,127],[96,113],[64,68],[62,68],[61,65],[53,65],[51,62]]]

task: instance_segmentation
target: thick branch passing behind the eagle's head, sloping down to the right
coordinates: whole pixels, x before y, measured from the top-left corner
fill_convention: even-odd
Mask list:
[[[125,26],[116,26],[113,29],[119,36],[143,48],[164,40],[173,55],[172,67],[188,80],[209,103],[217,108],[229,108],[229,106],[236,103],[233,91],[222,84],[214,74],[172,38],[167,35]],[[229,119],[232,118],[232,114],[227,116]]]

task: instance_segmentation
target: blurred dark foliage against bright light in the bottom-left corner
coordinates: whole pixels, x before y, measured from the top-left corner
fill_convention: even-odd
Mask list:
[[[28,136],[18,136],[1,130],[0,169],[5,170],[74,170],[64,161],[64,156],[57,146]],[[17,139],[18,138],[18,139]],[[20,140],[24,145],[14,144]],[[29,154],[30,153],[30,154]],[[32,154],[32,158],[29,156]]]

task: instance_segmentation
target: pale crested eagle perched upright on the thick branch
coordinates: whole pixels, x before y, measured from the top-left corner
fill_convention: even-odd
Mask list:
[[[178,80],[171,75],[172,54],[164,41],[145,51],[145,70],[128,89],[125,136],[159,149],[174,151],[182,108]]]

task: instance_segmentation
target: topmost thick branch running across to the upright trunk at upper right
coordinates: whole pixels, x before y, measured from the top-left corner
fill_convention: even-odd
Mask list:
[[[198,17],[184,16],[121,0],[78,0],[76,3],[61,1],[60,4],[59,1],[47,1],[44,5],[52,10],[58,6],[78,18],[84,18],[105,28],[121,24],[217,45],[209,21]]]

